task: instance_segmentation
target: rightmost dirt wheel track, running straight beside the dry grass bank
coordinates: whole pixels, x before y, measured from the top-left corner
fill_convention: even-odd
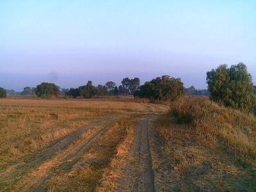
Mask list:
[[[134,142],[129,152],[129,162],[122,165],[120,170],[113,170],[120,175],[116,191],[155,191],[154,172],[152,170],[150,145],[148,140],[148,123],[156,115],[143,115],[136,122]],[[115,175],[114,174],[114,175]]]

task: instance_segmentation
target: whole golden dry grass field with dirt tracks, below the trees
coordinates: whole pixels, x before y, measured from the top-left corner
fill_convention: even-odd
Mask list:
[[[255,191],[256,118],[207,98],[0,100],[0,191]]]

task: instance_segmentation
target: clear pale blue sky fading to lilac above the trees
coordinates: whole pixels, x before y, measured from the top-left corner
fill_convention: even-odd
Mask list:
[[[256,1],[0,0],[0,87],[180,77],[243,62],[256,84]]]

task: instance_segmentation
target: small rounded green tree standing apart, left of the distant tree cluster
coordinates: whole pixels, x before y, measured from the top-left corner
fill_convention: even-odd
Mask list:
[[[54,83],[41,83],[35,88],[37,97],[51,97],[52,95],[58,96],[60,93],[59,86]]]

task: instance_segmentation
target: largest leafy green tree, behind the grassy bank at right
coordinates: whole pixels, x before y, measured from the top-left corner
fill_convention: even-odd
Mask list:
[[[239,63],[220,65],[207,72],[208,90],[211,99],[234,109],[250,111],[255,104],[252,76],[247,72],[246,65]]]

